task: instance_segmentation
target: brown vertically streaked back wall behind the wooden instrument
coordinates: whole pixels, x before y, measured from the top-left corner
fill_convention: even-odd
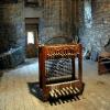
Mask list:
[[[78,0],[44,0],[40,42],[45,43],[55,36],[67,36],[72,41],[78,23],[77,6]]]

